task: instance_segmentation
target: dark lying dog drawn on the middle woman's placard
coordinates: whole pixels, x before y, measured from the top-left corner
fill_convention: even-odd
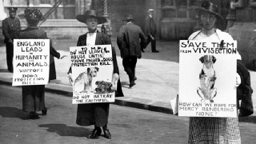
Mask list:
[[[112,83],[111,82],[104,82],[104,81],[97,81],[95,82],[97,85],[95,91],[97,94],[102,94],[102,93],[113,93],[114,90],[111,90]]]

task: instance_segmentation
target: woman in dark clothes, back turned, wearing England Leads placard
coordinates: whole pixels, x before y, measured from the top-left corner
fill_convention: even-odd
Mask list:
[[[40,10],[26,9],[24,10],[24,14],[19,14],[18,16],[21,19],[26,19],[28,26],[25,30],[21,30],[19,34],[20,39],[49,39],[47,38],[46,32],[38,28],[38,23],[45,21]],[[50,80],[56,79],[54,57],[64,58],[66,55],[61,56],[52,47],[50,42],[49,82]],[[22,110],[30,112],[30,118],[38,118],[36,111],[40,110],[42,110],[42,115],[47,114],[45,106],[45,85],[22,86]]]

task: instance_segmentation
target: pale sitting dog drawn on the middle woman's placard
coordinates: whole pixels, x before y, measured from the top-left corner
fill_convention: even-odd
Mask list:
[[[91,82],[94,77],[97,76],[98,67],[88,67],[86,72],[78,75],[78,78],[74,80],[74,93],[88,93],[94,92]]]

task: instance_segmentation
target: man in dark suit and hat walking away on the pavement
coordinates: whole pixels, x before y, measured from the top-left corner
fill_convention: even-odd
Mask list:
[[[121,52],[122,66],[129,76],[130,87],[135,85],[135,67],[138,58],[142,58],[141,50],[146,47],[146,37],[141,27],[134,25],[134,18],[127,14],[125,23],[119,30],[117,42]]]

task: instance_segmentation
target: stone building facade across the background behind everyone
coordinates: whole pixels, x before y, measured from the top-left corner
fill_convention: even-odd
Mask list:
[[[219,14],[225,19],[218,23],[220,30],[229,32],[238,41],[238,50],[242,61],[251,70],[256,70],[256,2],[255,0],[2,0],[4,12],[8,15],[7,7],[18,7],[17,14],[22,14],[26,7],[36,7],[46,13],[57,2],[63,1],[46,22],[40,26],[46,30],[50,38],[77,39],[78,35],[86,33],[86,25],[78,22],[75,17],[86,10],[97,10],[100,15],[104,12],[103,3],[107,3],[105,15],[108,19],[112,37],[116,37],[123,25],[122,19],[126,14],[134,15],[134,23],[145,27],[148,9],[154,9],[154,21],[157,25],[157,38],[175,41],[186,39],[195,30],[202,29],[194,8],[202,2],[214,2],[219,8]],[[0,22],[2,23],[1,19]],[[22,28],[25,28],[22,24]],[[0,26],[2,33],[2,27]],[[101,30],[101,26],[98,26]],[[3,36],[0,35],[2,42]]]

